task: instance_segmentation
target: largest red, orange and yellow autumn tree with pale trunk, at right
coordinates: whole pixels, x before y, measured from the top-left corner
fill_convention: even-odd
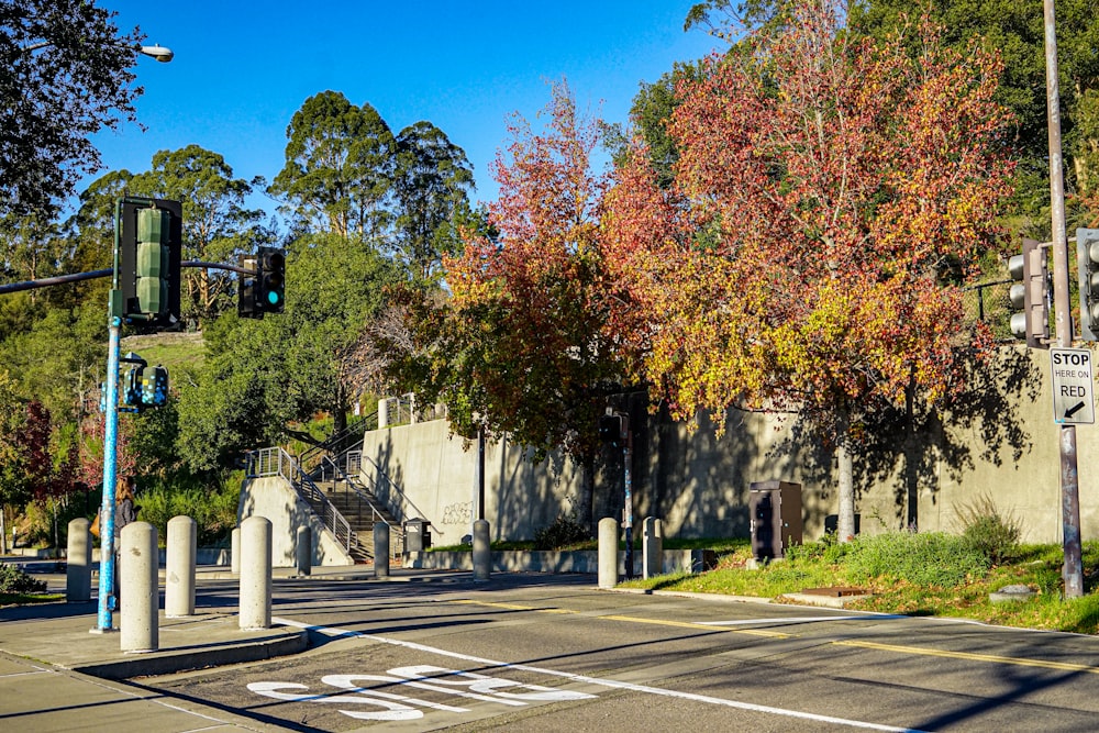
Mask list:
[[[639,151],[604,254],[613,322],[673,412],[799,411],[835,452],[846,540],[864,422],[944,396],[981,346],[959,285],[996,244],[1012,126],[993,53],[930,23],[856,40],[843,10],[799,0],[679,88],[675,184]]]

